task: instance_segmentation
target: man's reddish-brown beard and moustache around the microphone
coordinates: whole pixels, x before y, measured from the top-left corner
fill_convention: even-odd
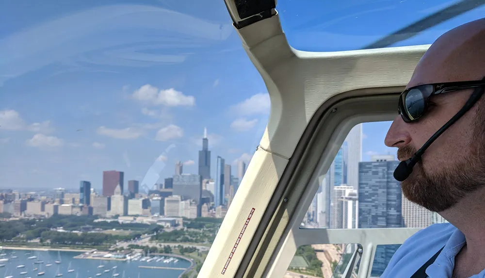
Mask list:
[[[452,208],[465,196],[485,187],[485,160],[478,155],[485,153],[484,150],[485,144],[475,141],[467,155],[450,158],[450,164],[439,165],[433,172],[426,171],[420,160],[411,175],[401,183],[404,196],[432,212]],[[405,160],[415,152],[414,147],[406,145],[399,148],[397,156],[399,160]]]

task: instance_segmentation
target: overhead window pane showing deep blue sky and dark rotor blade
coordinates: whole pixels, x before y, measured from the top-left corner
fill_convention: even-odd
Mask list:
[[[278,0],[276,9],[290,45],[305,51],[431,44],[485,12],[462,0]]]

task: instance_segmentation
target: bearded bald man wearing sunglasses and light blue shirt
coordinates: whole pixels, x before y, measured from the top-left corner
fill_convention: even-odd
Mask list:
[[[484,77],[485,19],[480,19],[439,37],[401,95],[400,115],[385,139],[398,148],[400,161],[412,158],[464,106],[471,108],[455,116],[401,185],[410,201],[450,223],[407,239],[381,278],[485,278]]]

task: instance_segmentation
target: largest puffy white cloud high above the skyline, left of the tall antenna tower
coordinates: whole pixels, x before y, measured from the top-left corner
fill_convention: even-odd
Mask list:
[[[174,88],[159,90],[150,84],[141,86],[133,92],[134,99],[147,102],[152,105],[165,106],[194,106],[195,97],[186,96]]]

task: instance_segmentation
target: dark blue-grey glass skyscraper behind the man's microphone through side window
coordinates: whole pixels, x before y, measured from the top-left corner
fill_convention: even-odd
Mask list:
[[[402,228],[401,183],[393,176],[399,161],[372,160],[359,163],[358,228]],[[377,246],[371,276],[384,272],[399,246]]]

